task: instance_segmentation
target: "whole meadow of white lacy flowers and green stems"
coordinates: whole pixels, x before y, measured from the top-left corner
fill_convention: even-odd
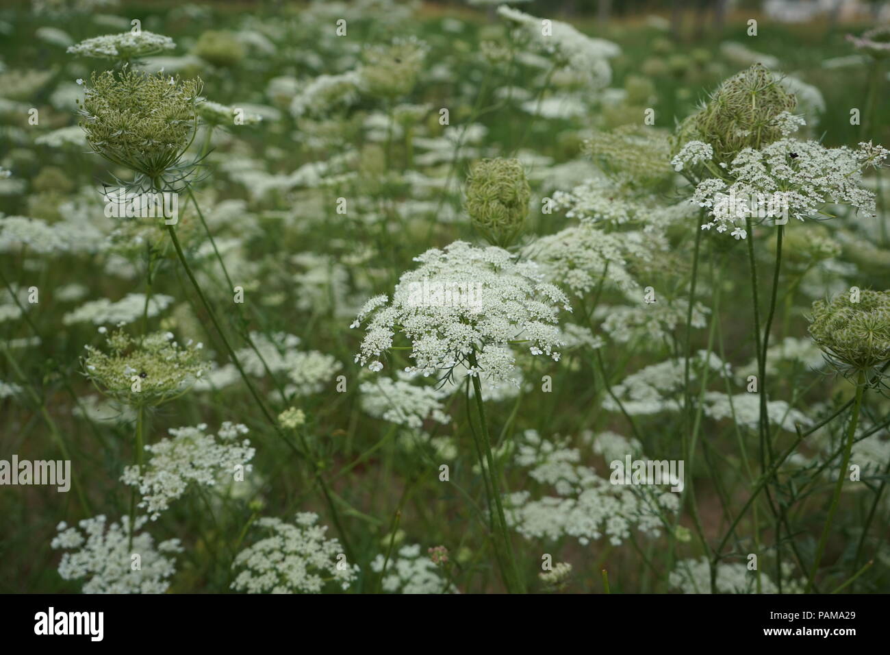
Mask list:
[[[890,27],[760,4],[4,5],[0,591],[890,589]]]

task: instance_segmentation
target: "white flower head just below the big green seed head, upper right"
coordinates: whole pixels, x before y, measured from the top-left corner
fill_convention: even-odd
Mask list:
[[[879,145],[860,143],[858,150],[825,148],[814,141],[781,139],[761,150],[741,151],[726,171],[728,181],[701,181],[692,202],[708,208],[711,220],[702,229],[732,229],[746,238],[745,220],[795,217],[804,220],[828,203],[846,204],[866,214],[875,213],[874,193],[863,189],[862,168],[878,167],[886,159]],[[752,208],[752,201],[761,206]]]

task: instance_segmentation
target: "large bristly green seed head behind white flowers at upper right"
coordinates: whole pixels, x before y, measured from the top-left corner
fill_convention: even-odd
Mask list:
[[[745,148],[759,149],[783,137],[782,112],[793,111],[797,98],[763,64],[724,81],[699,111],[680,124],[672,154],[685,143],[703,141],[714,148],[717,162],[730,162]]]

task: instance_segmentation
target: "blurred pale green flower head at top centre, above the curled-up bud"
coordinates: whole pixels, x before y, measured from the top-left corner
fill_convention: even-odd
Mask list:
[[[369,47],[361,68],[362,86],[368,94],[398,98],[408,94],[423,70],[427,45],[417,38],[397,38],[391,45]]]

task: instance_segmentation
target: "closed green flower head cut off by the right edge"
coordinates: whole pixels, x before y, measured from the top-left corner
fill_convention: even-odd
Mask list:
[[[890,291],[853,289],[816,300],[810,335],[845,375],[884,364],[890,360]]]

